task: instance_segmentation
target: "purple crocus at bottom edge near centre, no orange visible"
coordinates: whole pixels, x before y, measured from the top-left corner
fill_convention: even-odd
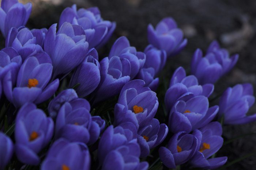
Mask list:
[[[136,139],[135,126],[127,122],[123,126],[109,126],[99,141],[99,165],[103,170],[146,170],[147,162],[140,163],[140,147]]]

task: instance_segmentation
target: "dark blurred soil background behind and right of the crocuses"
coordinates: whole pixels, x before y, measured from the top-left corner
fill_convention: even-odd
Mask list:
[[[1,0],[0,0],[1,1]],[[19,0],[22,3],[27,0]],[[160,80],[168,80],[174,70],[182,66],[189,70],[196,48],[207,50],[212,40],[218,40],[221,47],[230,54],[240,55],[234,69],[218,81],[215,94],[221,94],[227,87],[238,83],[252,83],[256,89],[256,1],[255,0],[30,0],[33,9],[27,27],[49,28],[59,22],[61,12],[76,3],[79,8],[97,6],[104,20],[116,21],[116,30],[110,41],[99,50],[99,58],[108,56],[114,41],[127,36],[131,46],[144,51],[148,45],[147,25],[155,25],[163,17],[173,17],[188,39],[185,49],[168,63]],[[0,36],[0,47],[4,39]],[[161,88],[161,86],[160,86]],[[159,96],[161,98],[162,96]],[[160,101],[160,104],[163,101]],[[215,101],[218,104],[218,99]],[[160,105],[159,105],[160,106]],[[256,104],[249,114],[256,113]],[[244,135],[250,134],[250,135]],[[242,135],[226,144],[217,156],[228,156],[228,162],[242,159],[226,167],[230,170],[256,169],[256,122],[237,126],[224,126],[224,141]],[[248,155],[250,157],[248,157]]]

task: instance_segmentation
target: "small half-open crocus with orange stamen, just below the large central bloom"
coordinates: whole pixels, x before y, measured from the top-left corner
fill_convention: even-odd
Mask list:
[[[168,133],[166,124],[159,124],[157,119],[152,119],[146,126],[139,127],[137,140],[140,145],[140,157],[147,157],[150,149],[158,146]]]

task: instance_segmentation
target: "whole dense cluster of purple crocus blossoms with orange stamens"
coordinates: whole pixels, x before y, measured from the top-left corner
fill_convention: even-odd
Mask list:
[[[223,144],[216,120],[256,120],[246,116],[255,102],[251,84],[227,88],[219,105],[209,102],[213,83],[238,60],[217,41],[205,57],[196,50],[193,75],[183,67],[174,71],[161,96],[161,117],[158,76],[167,58],[187,45],[170,17],[155,29],[148,25],[144,52],[121,36],[103,58],[97,50],[116,23],[103,20],[97,7],[77,10],[74,4],[61,13],[59,25],[30,30],[31,8],[1,1],[0,170],[146,170],[159,159],[168,168],[216,169],[227,161],[210,158]]]

